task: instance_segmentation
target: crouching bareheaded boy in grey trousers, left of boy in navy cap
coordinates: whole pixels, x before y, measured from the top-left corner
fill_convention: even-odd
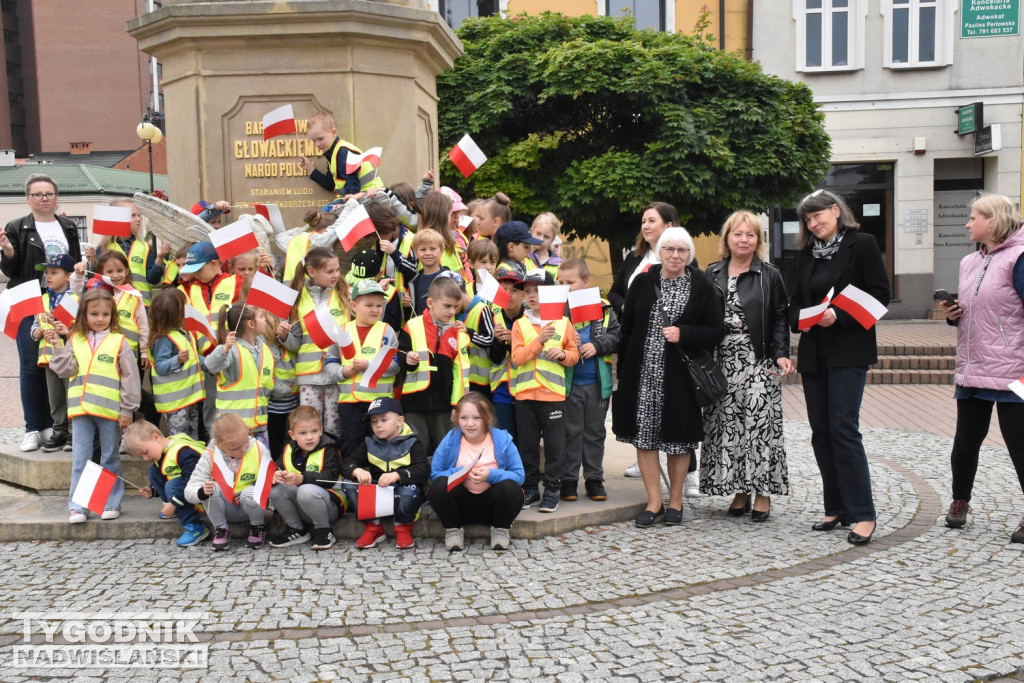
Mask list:
[[[278,471],[270,489],[285,528],[270,537],[270,545],[287,548],[312,539],[313,550],[328,550],[335,542],[331,524],[345,512],[344,496],[334,488],[341,449],[334,435],[324,432],[319,413],[309,405],[299,405],[289,416],[288,436],[284,452],[274,458]]]

